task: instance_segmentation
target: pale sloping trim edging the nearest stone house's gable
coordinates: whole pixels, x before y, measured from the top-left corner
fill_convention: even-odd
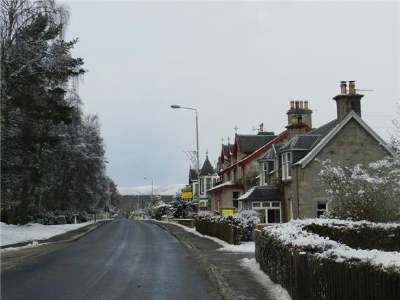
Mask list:
[[[380,145],[382,145],[382,147],[385,148],[385,150],[387,150],[387,152],[389,152],[393,156],[395,155],[394,150],[392,148],[390,148],[389,145],[387,145],[387,143],[385,141],[383,141],[382,138],[380,136],[378,136],[378,134],[375,131],[373,131],[373,129],[371,129],[371,127],[368,126],[368,124],[366,124],[366,122],[364,122],[364,120],[361,119],[361,117],[359,115],[356,114],[356,112],[351,111],[351,112],[349,112],[349,115],[347,115],[345,117],[345,119],[342,120],[342,122],[340,122],[335,127],[333,127],[333,129],[331,131],[328,131],[326,133],[326,136],[324,136],[324,138],[322,138],[321,141],[319,141],[319,143],[316,144],[314,146],[314,148],[310,152],[308,152],[308,154],[305,157],[303,157],[298,162],[296,162],[295,165],[300,165],[301,164],[301,167],[305,168],[307,166],[307,164],[309,164],[309,162],[311,162],[312,159],[314,159],[314,157],[316,157],[316,155],[318,155],[318,153],[322,149],[324,149],[324,147],[332,140],[332,138],[340,130],[342,130],[342,128],[351,119],[356,120],[356,122],[358,122],[361,127],[363,127],[373,138],[375,138],[375,140],[378,141],[380,143]]]

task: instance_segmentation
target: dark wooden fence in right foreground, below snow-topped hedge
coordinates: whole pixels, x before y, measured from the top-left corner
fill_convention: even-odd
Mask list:
[[[293,300],[399,300],[400,274],[368,264],[338,263],[286,249],[273,237],[255,233],[255,259]]]

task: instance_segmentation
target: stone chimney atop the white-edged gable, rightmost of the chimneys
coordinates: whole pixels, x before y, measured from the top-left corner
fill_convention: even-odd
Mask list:
[[[336,101],[338,122],[342,122],[352,110],[361,117],[361,98],[364,95],[356,93],[355,82],[354,80],[349,81],[349,93],[347,93],[346,81],[340,81],[340,94],[333,97],[333,100]]]

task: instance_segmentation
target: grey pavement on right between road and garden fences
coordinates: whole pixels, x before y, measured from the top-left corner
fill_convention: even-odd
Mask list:
[[[254,259],[254,253],[219,251],[222,246],[213,240],[195,235],[172,223],[148,221],[161,226],[176,237],[193,254],[223,299],[276,299],[272,291],[241,265]]]

